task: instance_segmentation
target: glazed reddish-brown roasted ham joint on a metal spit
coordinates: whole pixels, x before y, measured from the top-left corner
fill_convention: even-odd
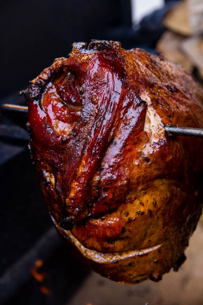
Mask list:
[[[118,282],[181,263],[203,203],[203,92],[181,66],[119,42],[73,44],[25,93],[30,150],[52,220]]]

